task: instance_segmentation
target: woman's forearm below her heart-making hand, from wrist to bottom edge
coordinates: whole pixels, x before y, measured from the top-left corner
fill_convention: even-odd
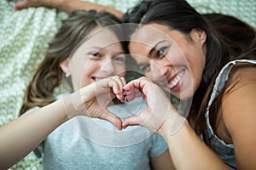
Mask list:
[[[170,155],[177,169],[230,169],[199,139],[189,126],[189,122],[183,120],[183,117],[174,117],[174,115],[166,118],[166,122],[160,128],[160,134],[169,145]],[[179,122],[183,122],[181,127],[178,125],[177,132],[172,132],[174,124]]]

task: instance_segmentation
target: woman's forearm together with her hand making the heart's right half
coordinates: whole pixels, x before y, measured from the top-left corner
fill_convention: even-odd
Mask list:
[[[170,156],[177,169],[229,169],[212,150],[195,134],[183,116],[177,113],[166,94],[147,78],[142,77],[129,82],[125,87],[126,99],[131,100],[140,89],[146,100],[148,109],[139,116],[131,116],[124,120],[123,126],[142,125],[150,131],[159,133],[169,146]]]

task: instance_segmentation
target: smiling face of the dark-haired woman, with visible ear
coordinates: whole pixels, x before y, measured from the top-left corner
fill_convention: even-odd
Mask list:
[[[131,36],[131,55],[145,77],[179,99],[189,99],[199,87],[206,62],[205,31],[189,35],[168,26],[148,24]]]

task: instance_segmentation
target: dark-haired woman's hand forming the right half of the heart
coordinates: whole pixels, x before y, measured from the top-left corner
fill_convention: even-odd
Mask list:
[[[162,89],[146,77],[129,82],[124,87],[124,90],[126,95],[125,100],[131,101],[136,97],[143,97],[148,105],[148,108],[141,111],[140,115],[126,118],[122,123],[124,128],[132,125],[140,125],[147,127],[148,130],[154,133],[160,133],[160,128],[166,122],[166,118],[168,117],[170,119],[171,116],[177,115],[176,109]]]

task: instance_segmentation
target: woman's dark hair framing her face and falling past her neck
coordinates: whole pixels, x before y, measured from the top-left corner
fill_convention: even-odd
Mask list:
[[[125,14],[124,21],[139,25],[157,23],[168,26],[172,30],[181,31],[186,35],[189,35],[194,28],[200,28],[207,33],[206,65],[200,86],[193,96],[188,116],[189,123],[195,128],[195,132],[202,133],[207,138],[204,116],[206,108],[201,108],[201,103],[205,97],[204,102],[207,104],[209,96],[205,96],[205,94],[212,89],[209,88],[212,77],[228,62],[230,55],[228,48],[218,37],[218,33],[201,14],[183,0],[142,1]],[[202,106],[206,106],[206,104]]]

